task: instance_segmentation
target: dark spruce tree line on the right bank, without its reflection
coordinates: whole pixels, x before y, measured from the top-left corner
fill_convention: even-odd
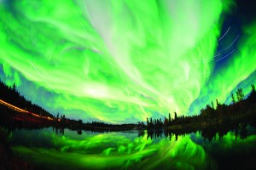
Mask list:
[[[152,117],[149,120],[147,118],[147,129],[148,131],[159,131],[162,128],[177,128],[188,125],[201,127],[255,117],[256,91],[253,84],[251,88],[251,93],[247,99],[245,99],[242,88],[238,88],[236,90],[236,97],[234,94],[231,94],[232,103],[230,105],[220,104],[218,99],[216,99],[215,105],[212,101],[211,105],[206,105],[204,109],[201,109],[199,115],[177,116],[177,113],[174,112],[173,118],[171,118],[169,113],[169,116],[165,116],[163,121],[161,119],[153,119]]]

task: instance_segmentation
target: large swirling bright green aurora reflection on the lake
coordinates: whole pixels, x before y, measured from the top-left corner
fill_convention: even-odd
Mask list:
[[[25,132],[25,131],[24,131]],[[159,141],[147,140],[147,133],[137,137],[137,133],[86,133],[82,136],[66,131],[65,136],[44,130],[15,134],[16,144],[12,149],[23,157],[31,156],[36,164],[79,168],[171,168],[191,169],[209,166],[209,157],[201,145],[195,144],[189,135]],[[35,136],[37,138],[35,138]],[[44,142],[41,142],[41,140]],[[36,140],[36,141],[35,141]],[[45,147],[45,148],[44,148]]]

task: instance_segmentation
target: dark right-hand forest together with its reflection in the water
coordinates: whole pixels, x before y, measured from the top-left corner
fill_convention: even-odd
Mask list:
[[[216,106],[213,102],[201,109],[201,113],[195,116],[177,116],[174,112],[174,118],[169,116],[161,119],[147,118],[148,138],[161,137],[162,133],[171,139],[174,135],[184,135],[185,133],[196,133],[201,131],[201,135],[210,141],[219,135],[220,139],[229,131],[234,131],[236,137],[241,129],[241,138],[245,138],[247,123],[256,125],[256,91],[252,84],[252,91],[247,99],[242,92],[242,88],[236,91],[236,97],[231,94],[232,103],[230,105],[219,104],[216,99]]]

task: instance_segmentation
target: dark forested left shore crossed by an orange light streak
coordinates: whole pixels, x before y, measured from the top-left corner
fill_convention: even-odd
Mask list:
[[[108,132],[108,131],[122,131],[133,129],[145,129],[143,122],[137,123],[125,123],[125,124],[108,124],[105,122],[84,122],[79,119],[70,119],[65,115],[58,113],[53,116],[48,111],[45,111],[42,107],[32,104],[31,101],[26,100],[16,90],[15,84],[13,86],[7,86],[0,81],[0,99],[8,102],[11,105],[15,105],[20,109],[29,111],[38,116],[33,116],[29,113],[20,113],[14,111],[5,105],[0,105],[0,125],[15,129],[15,128],[43,128],[43,127],[55,127],[56,132],[64,133],[64,128],[78,131],[90,130],[91,132]]]

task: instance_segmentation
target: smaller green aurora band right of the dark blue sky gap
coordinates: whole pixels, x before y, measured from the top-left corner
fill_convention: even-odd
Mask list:
[[[251,84],[256,83],[256,67],[253,65],[256,62],[256,51],[253,48],[256,46],[256,24],[247,26],[244,30],[245,35],[236,55],[227,61],[229,66],[218,69],[209,85],[201,89],[203,101],[196,105],[196,111],[200,111],[206,103],[210,104],[214,99],[221,103],[229,99],[230,102],[230,93],[236,94],[238,85],[243,88],[244,94],[251,92]]]

